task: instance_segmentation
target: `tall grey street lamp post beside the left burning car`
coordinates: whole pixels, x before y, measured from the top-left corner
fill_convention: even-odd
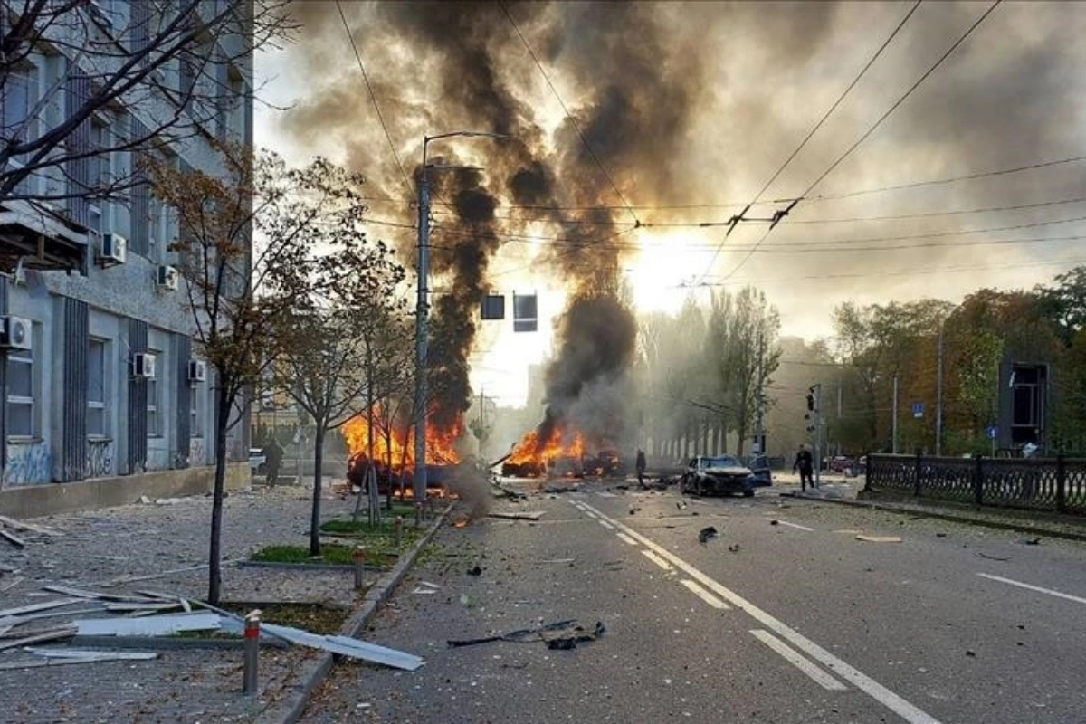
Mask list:
[[[456,130],[422,137],[422,173],[418,183],[418,303],[415,312],[415,500],[426,498],[426,358],[429,347],[430,283],[430,183],[427,150],[443,138],[508,138],[505,134]]]

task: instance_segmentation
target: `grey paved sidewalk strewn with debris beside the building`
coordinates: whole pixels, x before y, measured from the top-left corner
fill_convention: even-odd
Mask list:
[[[306,486],[231,494],[224,509],[224,560],[245,559],[269,544],[305,545],[311,495]],[[7,588],[0,593],[0,608],[61,598],[41,590],[48,584],[113,594],[150,589],[202,599],[207,590],[211,503],[202,496],[175,498],[35,519],[62,535],[26,534],[22,550],[0,541],[0,566],[16,569],[0,579],[0,588]],[[353,497],[341,500],[325,488],[323,519],[346,516],[353,506]],[[132,577],[140,580],[125,581]],[[350,570],[228,563],[223,569],[223,600],[319,601],[358,612],[377,592],[370,589],[363,598],[353,583]],[[262,649],[261,688],[253,698],[241,694],[239,647],[171,648],[151,661],[5,671],[0,700],[4,717],[20,722],[281,721],[312,683],[314,668],[308,662],[321,659],[321,653],[298,646]],[[0,664],[12,660],[0,652]]]

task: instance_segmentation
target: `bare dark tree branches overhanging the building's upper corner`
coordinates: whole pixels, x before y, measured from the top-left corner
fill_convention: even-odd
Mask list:
[[[287,4],[4,0],[0,201],[128,202],[146,183],[140,154],[192,136],[251,140],[231,111],[253,97],[253,48],[292,35]]]

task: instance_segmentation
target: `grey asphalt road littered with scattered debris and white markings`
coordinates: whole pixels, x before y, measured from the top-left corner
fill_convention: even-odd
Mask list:
[[[368,634],[426,665],[339,664],[304,721],[1086,721],[1086,545],[775,490],[581,490],[443,530]],[[446,645],[568,619],[606,633]]]

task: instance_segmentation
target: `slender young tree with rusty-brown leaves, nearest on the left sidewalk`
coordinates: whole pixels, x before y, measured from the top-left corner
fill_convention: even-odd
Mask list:
[[[317,158],[288,168],[270,152],[223,147],[224,174],[149,164],[156,195],[173,207],[181,233],[171,245],[192,314],[194,342],[215,369],[215,486],[209,598],[220,592],[223,492],[227,432],[242,419],[245,391],[282,352],[277,335],[312,297],[314,284],[343,283],[336,259],[362,239],[361,178]],[[330,249],[311,244],[336,228]],[[253,243],[253,239],[257,243]],[[339,255],[339,256],[337,256]],[[304,307],[303,307],[304,308]],[[237,411],[235,412],[235,409]]]

